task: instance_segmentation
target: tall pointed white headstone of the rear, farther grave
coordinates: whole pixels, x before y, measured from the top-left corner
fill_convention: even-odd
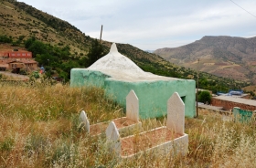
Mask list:
[[[126,96],[126,117],[132,121],[139,121],[139,99],[133,89]]]

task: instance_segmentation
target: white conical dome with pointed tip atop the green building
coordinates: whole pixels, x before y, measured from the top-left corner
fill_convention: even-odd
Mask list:
[[[144,72],[139,68],[131,59],[126,58],[120,54],[117,50],[115,43],[112,44],[109,54],[100,58],[94,64],[89,67],[93,70],[135,70],[138,72]]]

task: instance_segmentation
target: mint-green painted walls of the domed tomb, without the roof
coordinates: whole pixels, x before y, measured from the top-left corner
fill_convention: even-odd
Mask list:
[[[71,69],[71,87],[96,86],[105,89],[107,97],[116,100],[125,107],[125,98],[134,90],[140,105],[140,117],[143,119],[161,117],[166,114],[167,100],[178,92],[185,101],[185,115],[196,115],[196,82],[190,79],[128,82],[112,79],[109,76],[85,68]]]

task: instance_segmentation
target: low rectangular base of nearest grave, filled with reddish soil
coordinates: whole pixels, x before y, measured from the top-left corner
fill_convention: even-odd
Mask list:
[[[187,148],[188,135],[186,133],[178,134],[164,126],[122,138],[121,153],[119,153],[119,156],[122,159],[129,159],[134,156],[153,152],[163,156],[169,152],[185,155]]]

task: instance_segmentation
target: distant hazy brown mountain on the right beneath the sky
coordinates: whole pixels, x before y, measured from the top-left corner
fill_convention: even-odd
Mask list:
[[[256,83],[256,37],[202,37],[186,46],[160,48],[154,53],[179,66]]]

